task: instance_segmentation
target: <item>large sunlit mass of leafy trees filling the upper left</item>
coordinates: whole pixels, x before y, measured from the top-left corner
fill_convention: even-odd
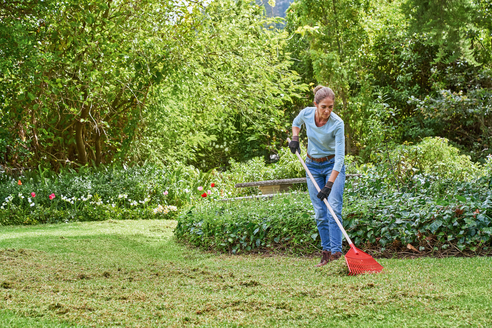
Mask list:
[[[207,158],[212,168],[245,140],[265,149],[284,102],[306,89],[289,70],[288,34],[245,1],[23,0],[0,14],[0,151],[11,165]]]

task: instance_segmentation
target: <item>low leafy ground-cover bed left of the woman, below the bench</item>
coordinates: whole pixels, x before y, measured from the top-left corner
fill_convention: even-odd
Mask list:
[[[204,249],[238,253],[254,249],[312,253],[320,247],[312,205],[303,194],[273,200],[214,202],[178,218],[175,234]]]

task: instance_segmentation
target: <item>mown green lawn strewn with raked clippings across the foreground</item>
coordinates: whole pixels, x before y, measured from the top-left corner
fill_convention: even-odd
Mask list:
[[[1,227],[0,327],[492,327],[490,258],[352,277],[342,261],[192,250],[175,224]]]

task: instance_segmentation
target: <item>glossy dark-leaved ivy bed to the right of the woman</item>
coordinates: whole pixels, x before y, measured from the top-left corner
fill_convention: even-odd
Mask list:
[[[403,193],[383,193],[378,176],[354,179],[346,190],[343,224],[355,244],[414,243],[471,251],[490,244],[492,193],[488,179],[416,179]],[[381,197],[383,196],[384,197]]]

